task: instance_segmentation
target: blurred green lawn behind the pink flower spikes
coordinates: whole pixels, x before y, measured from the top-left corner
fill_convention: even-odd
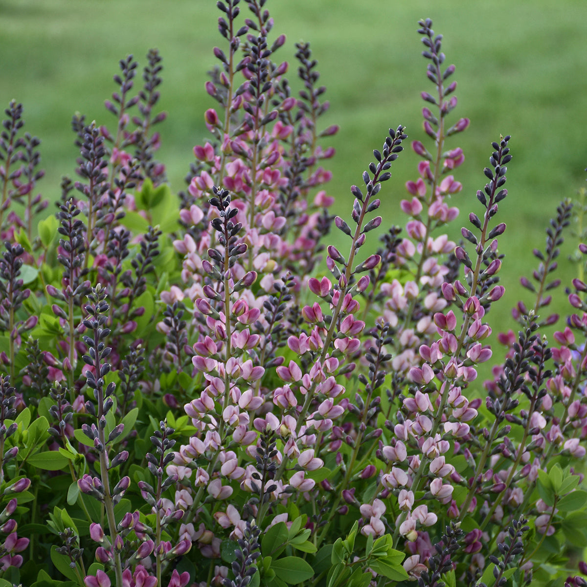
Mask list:
[[[587,2],[269,0],[266,8],[275,19],[272,33],[288,37],[275,60],[293,64],[294,43],[303,40],[311,42],[319,61],[330,101],[323,124],[340,125],[339,134],[323,144],[337,150],[327,162],[334,173],[329,192],[343,216],[352,205],[350,185],[360,183],[390,126],[401,123],[410,140],[427,141],[419,96],[433,86],[416,29],[420,18],[433,19],[434,30],[444,35],[447,63],[457,66],[452,79],[459,104],[452,120],[471,119],[470,129],[446,144],[462,147],[466,157],[456,173],[464,188],[453,198],[461,209],[453,237],[468,223],[468,212],[481,214],[474,194],[485,183],[491,141],[512,135],[510,195],[498,215],[508,223],[500,239],[507,255],[507,301],[500,303],[506,316],[520,295],[519,275],[535,266],[532,248],[544,247],[557,203],[584,185]],[[47,174],[39,188],[46,197],[56,198],[60,178],[73,176],[72,114],[112,127],[103,102],[115,89],[117,62],[133,53],[142,68],[151,47],[164,58],[160,105],[168,112],[159,127],[159,158],[167,164],[173,191],[183,188],[192,148],[207,139],[204,110],[215,105],[204,82],[217,63],[212,48],[225,48],[219,15],[214,0],[0,0],[0,104],[22,102],[25,130],[43,141]],[[297,87],[294,67],[288,77]],[[394,164],[394,177],[382,191],[382,228],[403,222],[399,201],[405,181],[417,177],[418,161],[408,149]],[[340,235],[332,238],[339,242]],[[376,246],[370,239],[370,249]],[[561,259],[567,254],[565,249]],[[572,278],[575,269],[561,264]]]

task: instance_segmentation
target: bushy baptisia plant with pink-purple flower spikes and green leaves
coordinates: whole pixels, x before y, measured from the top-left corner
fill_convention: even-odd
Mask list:
[[[586,585],[582,269],[564,321],[548,310],[571,201],[495,349],[510,136],[465,200],[469,120],[420,21],[432,86],[407,222],[377,215],[410,158],[403,124],[332,215],[338,127],[309,44],[280,62],[265,4],[217,2],[209,136],[177,196],[156,50],[138,90],[120,61],[113,125],[73,117],[55,215],[40,141],[5,111],[0,587]]]

